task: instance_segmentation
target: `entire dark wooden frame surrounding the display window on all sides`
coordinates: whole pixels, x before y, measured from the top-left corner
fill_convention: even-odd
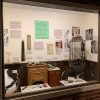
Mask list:
[[[4,61],[3,61],[3,15],[2,15],[2,10],[3,2],[10,2],[10,3],[16,3],[16,4],[27,4],[27,5],[35,5],[35,6],[42,6],[42,7],[50,7],[50,8],[59,8],[59,9],[67,9],[67,10],[74,10],[74,11],[85,11],[85,12],[93,12],[93,13],[98,13],[100,11],[100,7],[97,6],[90,6],[90,5],[83,5],[83,4],[78,4],[78,3],[70,3],[66,1],[59,1],[59,0],[31,0],[31,1],[26,1],[26,0],[0,0],[0,100],[4,99]],[[99,14],[99,30],[98,33],[100,32],[100,14]],[[98,34],[98,51],[100,51],[100,34]],[[99,54],[99,53],[98,53]],[[99,74],[97,75],[97,79],[100,81],[100,55],[98,55],[98,70]],[[87,88],[88,87],[88,88]],[[16,99],[16,100],[39,100],[40,96],[41,99],[47,99],[47,98],[52,98],[55,96],[63,96],[63,95],[68,95],[68,94],[73,94],[73,93],[78,93],[91,89],[97,89],[100,87],[100,84],[95,84],[95,85],[88,85],[88,86],[80,86],[76,88],[70,88],[66,89],[65,87],[62,87],[60,89],[53,88],[51,91],[44,91],[40,93],[27,93],[27,94],[17,94],[13,96],[8,96],[5,99]]]

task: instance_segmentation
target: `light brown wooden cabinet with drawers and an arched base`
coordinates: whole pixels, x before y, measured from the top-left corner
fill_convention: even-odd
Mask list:
[[[45,82],[48,83],[48,66],[47,64],[31,64],[27,67],[28,73],[28,85],[32,85],[35,82]]]

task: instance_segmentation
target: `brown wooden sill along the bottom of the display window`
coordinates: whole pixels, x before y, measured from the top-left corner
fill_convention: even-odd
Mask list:
[[[95,82],[94,82],[95,83]],[[95,90],[100,87],[100,84],[93,84],[93,85],[86,85],[86,86],[77,86],[77,87],[72,87],[72,88],[65,88],[61,87],[60,89],[52,88],[51,90],[47,91],[39,91],[39,92],[31,92],[31,93],[23,93],[21,95],[20,93],[12,96],[6,96],[5,100],[46,100],[54,97],[60,97],[64,95],[71,95],[71,94],[76,94],[80,92],[86,92],[90,90]],[[18,95],[18,96],[17,96]]]

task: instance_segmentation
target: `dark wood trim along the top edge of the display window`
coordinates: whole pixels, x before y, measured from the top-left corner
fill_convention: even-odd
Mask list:
[[[99,6],[72,3],[60,0],[3,0],[3,1],[15,4],[65,9],[65,10],[80,11],[80,12],[98,13],[98,11],[100,10]]]

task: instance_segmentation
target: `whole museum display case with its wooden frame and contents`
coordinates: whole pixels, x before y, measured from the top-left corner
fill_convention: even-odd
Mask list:
[[[48,3],[3,1],[6,100],[50,99],[99,86],[98,10]]]

